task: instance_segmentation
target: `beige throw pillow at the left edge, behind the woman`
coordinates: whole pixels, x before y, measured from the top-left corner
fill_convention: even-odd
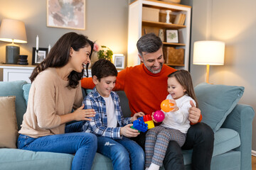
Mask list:
[[[16,148],[18,127],[15,96],[0,97],[0,148]]]

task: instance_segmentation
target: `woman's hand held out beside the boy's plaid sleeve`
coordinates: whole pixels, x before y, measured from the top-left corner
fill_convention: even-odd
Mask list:
[[[95,117],[95,110],[84,109],[85,104],[82,104],[80,108],[73,112],[74,120],[92,120],[90,117]]]

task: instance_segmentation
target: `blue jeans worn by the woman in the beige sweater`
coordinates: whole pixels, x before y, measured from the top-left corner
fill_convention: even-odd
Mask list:
[[[78,123],[74,123],[74,125],[75,128],[77,128]],[[74,125],[68,125],[67,128],[75,130]],[[67,130],[67,128],[65,130]],[[35,152],[75,154],[72,169],[90,170],[97,151],[97,137],[92,133],[85,132],[70,132],[38,138],[19,135],[17,146],[18,149],[26,149]]]

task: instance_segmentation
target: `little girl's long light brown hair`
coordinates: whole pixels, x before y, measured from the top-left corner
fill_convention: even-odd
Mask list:
[[[193,90],[191,74],[184,69],[179,69],[176,72],[169,74],[168,78],[170,77],[175,77],[178,83],[181,84],[184,89],[186,89],[185,93],[188,94],[188,96],[191,96],[194,101],[196,101],[196,107],[198,108],[198,101],[196,99],[195,91]]]

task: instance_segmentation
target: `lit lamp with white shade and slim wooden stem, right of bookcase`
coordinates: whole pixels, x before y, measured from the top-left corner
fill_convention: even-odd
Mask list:
[[[194,42],[193,64],[206,65],[206,83],[209,83],[210,65],[223,65],[224,53],[224,42],[212,40]]]

